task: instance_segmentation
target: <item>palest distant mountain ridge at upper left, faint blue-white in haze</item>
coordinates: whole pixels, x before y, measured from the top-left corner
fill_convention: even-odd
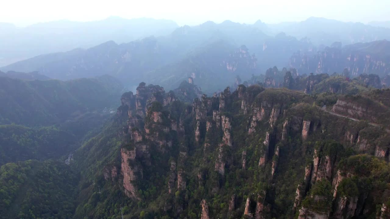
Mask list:
[[[7,65],[14,60],[46,53],[89,48],[110,40],[124,43],[151,35],[166,35],[177,27],[170,20],[119,17],[90,22],[52,21],[24,28],[0,25],[0,64]]]

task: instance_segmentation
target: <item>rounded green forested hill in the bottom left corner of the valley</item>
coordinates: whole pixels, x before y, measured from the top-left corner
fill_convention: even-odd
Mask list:
[[[78,175],[56,161],[24,161],[1,166],[1,218],[71,218]]]

